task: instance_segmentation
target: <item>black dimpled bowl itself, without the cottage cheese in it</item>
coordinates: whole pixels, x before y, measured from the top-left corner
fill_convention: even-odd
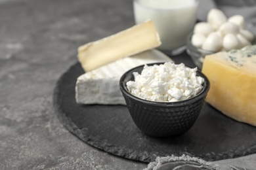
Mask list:
[[[163,64],[163,63],[152,63]],[[127,108],[133,121],[141,131],[154,137],[176,136],[185,133],[193,126],[203,107],[209,91],[209,80],[200,71],[198,76],[204,78],[202,91],[190,99],[177,102],[155,102],[140,99],[127,90],[126,83],[134,80],[133,72],[141,73],[144,65],[130,69],[121,76],[119,85],[125,98]]]

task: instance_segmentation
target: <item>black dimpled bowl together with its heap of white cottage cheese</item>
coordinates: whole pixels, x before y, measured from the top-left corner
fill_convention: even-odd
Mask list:
[[[154,137],[188,131],[200,114],[209,86],[197,68],[172,62],[140,65],[119,80],[136,126]]]

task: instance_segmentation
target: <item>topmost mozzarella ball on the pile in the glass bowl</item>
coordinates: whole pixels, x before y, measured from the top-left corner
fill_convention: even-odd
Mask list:
[[[219,9],[211,9],[207,14],[207,22],[211,24],[213,29],[217,30],[228,19],[226,15]]]

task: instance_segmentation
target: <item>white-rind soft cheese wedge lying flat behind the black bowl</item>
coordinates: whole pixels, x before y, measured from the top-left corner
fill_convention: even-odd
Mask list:
[[[85,73],[77,78],[76,102],[81,104],[125,105],[125,100],[119,89],[121,75],[138,65],[164,61],[172,60],[157,50],[149,50]]]

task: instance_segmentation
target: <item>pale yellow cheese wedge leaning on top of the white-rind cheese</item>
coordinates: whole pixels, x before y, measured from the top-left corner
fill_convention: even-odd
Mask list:
[[[161,41],[151,20],[116,35],[89,42],[78,48],[78,59],[87,71],[160,46]]]

